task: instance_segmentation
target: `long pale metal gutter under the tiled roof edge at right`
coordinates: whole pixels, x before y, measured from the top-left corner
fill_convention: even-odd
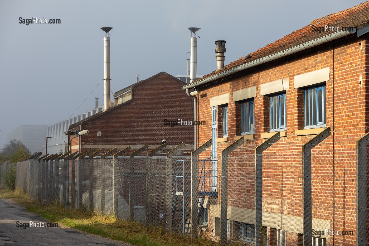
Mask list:
[[[342,38],[342,37],[345,37],[345,36],[348,36],[348,35],[354,34],[354,33],[356,33],[356,28],[353,28],[352,30],[349,30],[349,31],[338,31],[338,32],[323,36],[321,38],[317,38],[317,39],[314,39],[312,41],[297,45],[295,47],[285,49],[284,51],[280,51],[280,52],[277,52],[275,54],[268,55],[266,57],[257,59],[255,61],[248,62],[246,64],[236,66],[235,68],[231,68],[227,71],[224,71],[224,72],[221,72],[219,74],[210,76],[208,78],[200,79],[196,82],[189,83],[188,85],[183,86],[182,90],[187,90],[187,89],[191,89],[191,88],[194,88],[196,86],[199,86],[199,85],[204,85],[208,82],[216,81],[217,79],[221,79],[221,78],[227,77],[231,74],[235,74],[237,72],[244,71],[248,68],[252,68],[252,67],[264,64],[266,62],[275,61],[276,59],[279,59],[279,58],[282,58],[282,57],[287,57],[288,55],[296,54],[297,52],[300,52],[300,51],[303,51],[303,50],[306,50],[306,49],[309,49],[309,48],[312,48],[312,47],[315,47],[315,46],[318,46],[318,45],[321,45],[321,44],[324,44],[324,43],[327,43],[327,42],[330,42],[330,41],[333,41],[333,40],[336,40],[338,38]]]

